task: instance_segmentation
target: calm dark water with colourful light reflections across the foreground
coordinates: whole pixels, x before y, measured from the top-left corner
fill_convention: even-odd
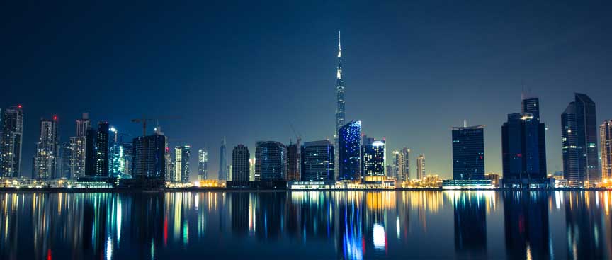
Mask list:
[[[609,259],[612,191],[2,193],[1,259]]]

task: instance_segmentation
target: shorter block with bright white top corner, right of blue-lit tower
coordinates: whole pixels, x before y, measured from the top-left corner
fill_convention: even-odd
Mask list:
[[[363,182],[385,180],[385,140],[364,138],[361,146]]]

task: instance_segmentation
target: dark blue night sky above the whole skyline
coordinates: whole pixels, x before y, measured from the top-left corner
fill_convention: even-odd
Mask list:
[[[331,139],[338,30],[347,121],[445,178],[463,120],[487,125],[485,170],[502,171],[501,126],[523,85],[540,98],[550,172],[574,92],[612,118],[610,1],[174,2],[0,3],[0,107],[23,105],[22,174],[40,117],[56,114],[62,142],[83,112],[132,137],[131,118],[178,116],[159,123],[172,146],[192,145],[192,179],[205,145],[216,178],[224,135],[228,156],[242,143],[251,157],[257,140],[295,142],[291,124]]]

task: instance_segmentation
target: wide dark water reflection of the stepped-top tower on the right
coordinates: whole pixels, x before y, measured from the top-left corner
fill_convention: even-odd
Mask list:
[[[550,259],[548,193],[504,191],[504,230],[509,259]]]

